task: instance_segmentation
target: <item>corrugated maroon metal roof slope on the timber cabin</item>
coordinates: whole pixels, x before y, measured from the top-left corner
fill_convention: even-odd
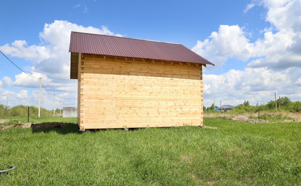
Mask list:
[[[81,32],[71,32],[69,52],[214,65],[181,44]]]

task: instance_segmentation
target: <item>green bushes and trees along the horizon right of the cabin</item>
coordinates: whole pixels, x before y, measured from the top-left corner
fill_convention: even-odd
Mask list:
[[[300,101],[291,101],[286,96],[280,98],[280,105],[279,105],[279,98],[276,99],[277,101],[277,111],[286,111],[286,112],[301,112],[301,102]],[[216,106],[218,107],[218,106]],[[234,109],[231,109],[230,112],[232,113],[244,113],[244,112],[258,112],[260,111],[275,111],[275,100],[269,101],[265,104],[257,103],[256,105],[250,105],[249,101],[244,101],[244,103],[236,105]],[[204,112],[214,112],[214,105],[210,107],[203,106]]]

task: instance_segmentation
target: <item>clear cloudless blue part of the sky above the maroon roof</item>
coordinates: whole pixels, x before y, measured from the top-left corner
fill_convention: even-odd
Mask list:
[[[32,45],[39,43],[38,33],[45,23],[68,20],[84,27],[104,25],[126,37],[182,43],[192,48],[196,40],[206,39],[221,24],[247,25],[255,35],[259,35],[259,29],[269,27],[260,15],[266,11],[263,7],[244,14],[249,2],[6,1],[2,4],[6,8],[1,10],[5,27],[0,31],[6,35],[2,43],[25,39]],[[74,8],[76,5],[80,7]]]

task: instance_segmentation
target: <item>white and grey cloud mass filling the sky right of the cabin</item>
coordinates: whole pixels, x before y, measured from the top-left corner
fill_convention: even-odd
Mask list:
[[[234,103],[271,99],[274,92],[301,96],[301,1],[251,1],[245,11],[255,5],[267,9],[265,20],[271,24],[261,30],[263,38],[250,42],[244,27],[220,25],[218,32],[197,41],[192,48],[216,64],[208,65],[206,70],[219,68],[229,58],[241,61],[252,58],[243,70],[204,74],[204,104],[211,105],[214,98]]]

